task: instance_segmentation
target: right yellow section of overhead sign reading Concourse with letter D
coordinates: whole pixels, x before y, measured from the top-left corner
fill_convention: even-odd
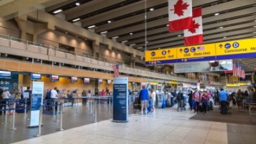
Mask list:
[[[256,39],[233,40],[216,43],[216,55],[248,54],[256,52]]]

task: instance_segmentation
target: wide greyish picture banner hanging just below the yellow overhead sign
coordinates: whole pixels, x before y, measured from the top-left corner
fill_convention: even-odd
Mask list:
[[[174,73],[226,71],[232,70],[232,66],[232,60],[174,63]]]

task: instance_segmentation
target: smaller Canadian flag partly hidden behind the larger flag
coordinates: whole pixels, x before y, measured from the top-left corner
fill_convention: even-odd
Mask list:
[[[185,45],[202,44],[204,42],[202,23],[202,8],[193,9],[193,27],[184,30]]]

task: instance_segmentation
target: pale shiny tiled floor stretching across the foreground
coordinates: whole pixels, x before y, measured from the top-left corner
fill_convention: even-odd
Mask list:
[[[256,127],[253,125],[227,124],[204,120],[191,120],[191,111],[176,111],[175,108],[157,109],[147,116],[129,115],[129,122],[114,123],[103,120],[61,132],[46,134],[40,138],[19,141],[29,143],[65,144],[255,144]],[[207,115],[211,115],[211,112]],[[228,115],[223,115],[228,116]]]

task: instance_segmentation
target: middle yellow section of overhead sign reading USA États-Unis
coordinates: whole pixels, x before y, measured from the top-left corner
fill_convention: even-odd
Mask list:
[[[177,59],[215,56],[215,44],[178,47]]]

